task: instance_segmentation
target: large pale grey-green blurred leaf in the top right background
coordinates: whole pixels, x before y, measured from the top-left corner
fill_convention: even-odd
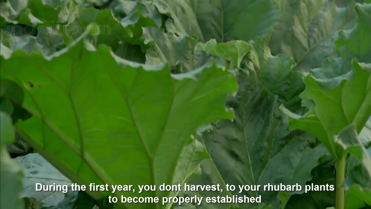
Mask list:
[[[334,0],[275,0],[280,22],[269,38],[273,54],[294,58],[296,69],[308,71],[335,55],[334,41],[339,30],[354,24],[354,1],[343,7]]]

